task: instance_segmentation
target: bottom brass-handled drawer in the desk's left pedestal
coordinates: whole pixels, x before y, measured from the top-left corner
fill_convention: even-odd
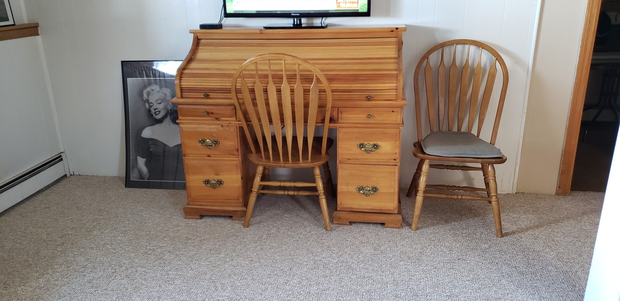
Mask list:
[[[238,201],[232,203],[242,206],[241,164],[238,160],[187,157],[183,160],[189,199],[211,199],[213,201],[229,199]],[[206,180],[212,182],[205,185]]]

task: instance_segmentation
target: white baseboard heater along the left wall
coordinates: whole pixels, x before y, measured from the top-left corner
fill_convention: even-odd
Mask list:
[[[58,154],[0,185],[0,212],[66,175]]]

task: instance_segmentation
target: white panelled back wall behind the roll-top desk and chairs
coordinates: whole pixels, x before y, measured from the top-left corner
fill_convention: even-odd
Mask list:
[[[74,173],[124,175],[125,146],[120,61],[183,59],[189,29],[218,20],[219,0],[24,0],[40,32],[60,117],[63,143]],[[484,41],[507,61],[510,86],[497,146],[508,162],[497,167],[500,191],[513,191],[520,145],[526,77],[537,0],[373,0],[368,18],[338,24],[406,24],[405,108],[401,185],[415,169],[412,71],[430,46],[453,38]],[[30,13],[32,12],[32,13]],[[225,25],[265,25],[278,20],[228,19]],[[288,20],[286,20],[288,22]],[[433,170],[431,181],[482,185],[477,173]]]

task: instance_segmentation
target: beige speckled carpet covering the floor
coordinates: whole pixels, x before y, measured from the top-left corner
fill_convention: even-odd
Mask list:
[[[185,191],[72,176],[0,213],[0,300],[582,300],[603,193],[428,199],[412,232],[263,196],[252,225],[183,219]],[[328,199],[330,211],[335,200]]]

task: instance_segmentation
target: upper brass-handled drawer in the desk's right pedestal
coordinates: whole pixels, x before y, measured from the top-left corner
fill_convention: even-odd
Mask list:
[[[342,162],[397,164],[401,129],[338,129],[338,159]]]

